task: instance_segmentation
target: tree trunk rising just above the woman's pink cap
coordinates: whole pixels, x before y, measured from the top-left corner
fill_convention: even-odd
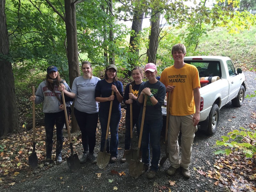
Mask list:
[[[148,63],[156,64],[156,52],[159,45],[159,33],[160,33],[160,13],[156,13],[151,17],[151,32],[149,37],[148,46]]]

